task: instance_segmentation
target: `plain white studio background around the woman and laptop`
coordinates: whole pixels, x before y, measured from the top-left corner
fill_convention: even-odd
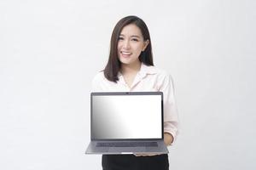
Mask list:
[[[90,81],[113,26],[148,25],[181,122],[170,169],[255,169],[256,3],[251,0],[0,1],[0,169],[101,169],[86,156]]]

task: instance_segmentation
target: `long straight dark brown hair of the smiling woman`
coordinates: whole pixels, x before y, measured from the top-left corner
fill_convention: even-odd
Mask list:
[[[111,82],[119,81],[119,70],[121,67],[121,63],[118,57],[118,42],[119,42],[119,35],[122,29],[130,24],[136,25],[143,34],[143,40],[148,40],[147,48],[140,54],[139,60],[143,62],[145,65],[154,65],[153,64],[153,55],[152,55],[152,47],[151,47],[151,39],[148,31],[148,26],[145,22],[138,18],[137,16],[126,16],[125,18],[119,20],[119,22],[114,26],[111,42],[110,42],[110,53],[108,57],[108,64],[104,69],[104,76]]]

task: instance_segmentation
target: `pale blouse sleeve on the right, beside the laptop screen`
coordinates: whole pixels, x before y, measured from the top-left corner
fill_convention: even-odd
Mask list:
[[[174,142],[177,139],[178,133],[178,116],[174,87],[170,75],[166,75],[163,79],[160,91],[164,94],[164,132],[171,133]]]

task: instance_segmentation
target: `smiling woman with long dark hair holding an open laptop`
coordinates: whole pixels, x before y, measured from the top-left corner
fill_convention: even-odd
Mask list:
[[[172,78],[154,67],[148,27],[137,16],[117,23],[111,37],[108,64],[92,81],[95,92],[161,91],[164,94],[164,141],[177,135],[177,110]],[[169,169],[168,156],[103,155],[103,170]]]

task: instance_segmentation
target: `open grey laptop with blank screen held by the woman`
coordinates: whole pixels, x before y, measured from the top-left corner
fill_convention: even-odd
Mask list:
[[[90,94],[86,154],[164,154],[162,92]]]

